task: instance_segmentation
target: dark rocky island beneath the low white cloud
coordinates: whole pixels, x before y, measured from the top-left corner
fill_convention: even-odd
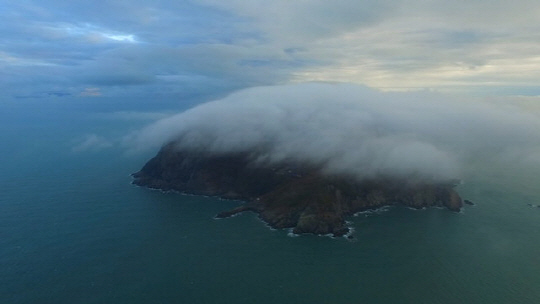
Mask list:
[[[459,211],[456,181],[379,176],[358,179],[299,162],[257,161],[250,151],[210,153],[164,145],[133,184],[164,191],[216,196],[243,203],[218,218],[251,211],[273,228],[295,234],[345,236],[346,218],[384,206],[446,207]]]

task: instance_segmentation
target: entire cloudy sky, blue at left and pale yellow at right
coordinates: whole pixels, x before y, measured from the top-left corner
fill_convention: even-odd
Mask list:
[[[538,95],[538,16],[534,0],[0,0],[0,89],[181,100],[315,80]]]

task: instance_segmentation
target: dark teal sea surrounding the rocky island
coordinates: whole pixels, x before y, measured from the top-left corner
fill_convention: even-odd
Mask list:
[[[145,122],[1,113],[0,303],[540,303],[534,186],[468,180],[459,214],[391,208],[351,218],[354,241],[290,237],[213,219],[234,201],[132,186],[152,155],[72,150]]]

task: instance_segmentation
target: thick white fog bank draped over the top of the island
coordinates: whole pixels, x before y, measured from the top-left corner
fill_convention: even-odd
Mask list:
[[[133,134],[133,149],[254,152],[358,178],[460,178],[474,159],[540,164],[540,117],[498,102],[352,84],[257,87],[163,119]]]

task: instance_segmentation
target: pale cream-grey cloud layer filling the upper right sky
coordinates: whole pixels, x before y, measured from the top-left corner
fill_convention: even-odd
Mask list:
[[[505,86],[509,93],[537,86],[535,1],[201,2],[251,18],[268,44],[303,49],[297,56],[311,65],[291,71],[300,82],[392,90]]]

